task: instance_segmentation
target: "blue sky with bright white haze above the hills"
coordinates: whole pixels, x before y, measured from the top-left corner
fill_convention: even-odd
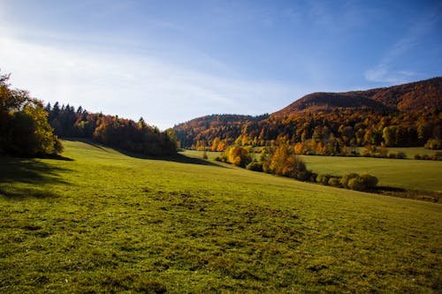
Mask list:
[[[164,130],[442,76],[442,2],[0,0],[0,71]]]

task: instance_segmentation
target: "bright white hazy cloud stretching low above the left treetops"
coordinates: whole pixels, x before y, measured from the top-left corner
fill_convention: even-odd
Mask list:
[[[230,79],[110,50],[105,41],[91,48],[75,36],[29,41],[1,27],[0,33],[1,70],[11,72],[14,87],[45,102],[144,117],[160,128],[211,113],[270,112],[301,94],[278,82]]]

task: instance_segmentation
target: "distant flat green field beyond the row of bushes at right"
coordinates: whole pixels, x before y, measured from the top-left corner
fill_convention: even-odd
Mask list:
[[[369,173],[378,177],[379,185],[442,191],[442,162],[440,161],[305,155],[301,155],[301,158],[306,162],[309,170],[319,174]]]

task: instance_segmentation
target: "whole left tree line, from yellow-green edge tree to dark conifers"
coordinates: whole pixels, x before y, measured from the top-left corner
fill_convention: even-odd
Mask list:
[[[161,132],[142,119],[90,113],[56,102],[45,107],[25,90],[12,89],[10,75],[0,75],[0,154],[46,157],[63,150],[58,138],[93,139],[143,155],[175,155],[178,144],[173,129]]]

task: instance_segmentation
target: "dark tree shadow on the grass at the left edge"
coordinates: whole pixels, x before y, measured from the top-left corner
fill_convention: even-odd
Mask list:
[[[59,177],[67,169],[54,167],[34,159],[0,156],[0,195],[21,200],[28,197],[44,199],[56,195],[47,188],[51,184],[67,184]],[[27,184],[27,186],[8,184]],[[30,185],[30,186],[29,186]]]

